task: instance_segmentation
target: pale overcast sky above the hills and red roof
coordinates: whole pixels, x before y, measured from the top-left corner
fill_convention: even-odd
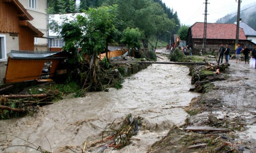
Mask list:
[[[237,0],[238,1],[238,0]],[[162,0],[166,6],[177,11],[181,24],[193,25],[204,22],[205,0]],[[237,12],[236,0],[208,0],[207,23],[214,23],[228,13]],[[256,0],[242,0],[241,10],[256,5]],[[252,8],[249,8],[250,10]]]

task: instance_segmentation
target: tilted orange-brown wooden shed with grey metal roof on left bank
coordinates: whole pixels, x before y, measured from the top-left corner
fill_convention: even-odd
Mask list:
[[[47,75],[53,77],[58,66],[68,57],[65,51],[11,51],[7,56],[8,63],[4,79],[5,83],[40,79],[45,62],[51,63]]]

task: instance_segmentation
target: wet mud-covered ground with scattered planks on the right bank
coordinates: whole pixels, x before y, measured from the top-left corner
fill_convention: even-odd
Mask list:
[[[229,63],[229,69],[217,76],[225,80],[211,82],[210,89],[185,108],[189,114],[186,123],[173,127],[148,152],[255,152],[256,69],[244,61]],[[187,126],[226,128],[231,132],[192,132],[184,130]],[[207,145],[189,148],[204,143]],[[225,147],[218,150],[222,145]]]

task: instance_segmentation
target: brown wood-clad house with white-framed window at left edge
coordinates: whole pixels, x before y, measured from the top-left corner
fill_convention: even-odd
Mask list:
[[[0,0],[0,83],[5,77],[7,53],[34,51],[34,37],[43,33],[28,21],[33,17],[18,0]]]

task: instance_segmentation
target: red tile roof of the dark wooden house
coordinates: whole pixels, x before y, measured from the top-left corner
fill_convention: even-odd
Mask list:
[[[204,23],[191,26],[192,38],[204,38]],[[236,24],[207,23],[207,39],[236,39]],[[246,40],[244,30],[239,29],[239,40]]]

